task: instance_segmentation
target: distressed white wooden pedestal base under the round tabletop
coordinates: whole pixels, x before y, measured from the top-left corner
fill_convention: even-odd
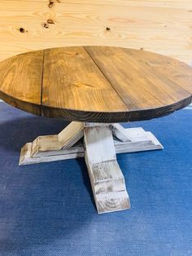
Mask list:
[[[33,143],[26,143],[20,165],[85,157],[95,204],[102,214],[130,208],[116,153],[162,148],[155,136],[142,128],[72,121],[59,135],[39,136]]]

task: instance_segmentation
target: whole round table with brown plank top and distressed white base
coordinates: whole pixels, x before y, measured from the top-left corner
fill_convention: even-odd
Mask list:
[[[72,121],[21,149],[20,165],[84,157],[98,213],[129,209],[116,153],[161,149],[149,131],[118,122],[168,115],[192,100],[192,68],[147,51],[74,46],[0,63],[0,98],[43,117]],[[84,143],[82,143],[84,137]]]

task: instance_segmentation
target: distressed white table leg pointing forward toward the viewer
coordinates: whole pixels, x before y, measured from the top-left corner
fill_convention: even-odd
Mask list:
[[[98,214],[130,208],[110,126],[85,124],[85,162]]]

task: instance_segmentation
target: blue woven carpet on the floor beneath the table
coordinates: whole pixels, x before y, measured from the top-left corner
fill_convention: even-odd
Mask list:
[[[20,148],[67,122],[0,103],[0,255],[192,255],[192,111],[124,124],[163,151],[118,155],[131,210],[98,215],[84,159],[18,166]]]

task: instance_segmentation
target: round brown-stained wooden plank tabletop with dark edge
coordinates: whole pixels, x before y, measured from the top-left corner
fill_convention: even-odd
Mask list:
[[[192,100],[192,68],[164,55],[110,46],[31,51],[0,63],[0,98],[70,121],[162,117]]]

